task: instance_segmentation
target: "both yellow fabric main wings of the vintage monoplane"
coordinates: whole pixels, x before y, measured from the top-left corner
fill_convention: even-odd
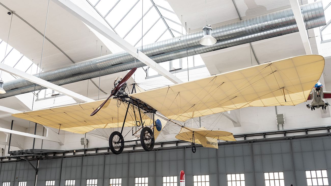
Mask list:
[[[180,121],[250,106],[297,105],[307,100],[323,68],[322,56],[297,56],[130,96],[144,101],[164,116]],[[103,101],[28,111],[12,116],[74,133],[86,133],[95,128],[121,127],[127,104],[119,104],[117,99],[111,99],[108,107],[90,116]],[[135,125],[132,108],[129,109],[131,115],[126,118],[124,126]],[[141,114],[143,120],[151,119]],[[136,112],[136,116],[139,118],[139,112]]]

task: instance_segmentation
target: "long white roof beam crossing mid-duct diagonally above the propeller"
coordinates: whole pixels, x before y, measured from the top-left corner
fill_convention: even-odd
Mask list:
[[[182,82],[178,77],[171,74],[168,70],[161,67],[159,64],[157,64],[155,61],[153,61],[151,58],[146,56],[141,51],[137,50],[134,46],[126,42],[124,39],[122,39],[120,36],[118,36],[116,33],[114,33],[111,29],[109,29],[107,26],[105,26],[103,23],[96,20],[94,17],[89,15],[87,12],[82,10],[80,7],[75,5],[70,0],[53,0],[56,4],[58,4],[60,7],[64,8],[68,12],[70,12],[73,16],[77,17],[81,21],[83,21],[88,26],[92,27],[96,31],[98,31],[100,34],[114,42],[116,45],[121,47],[123,50],[127,51],[129,54],[131,54],[133,57],[137,58],[139,61],[143,62],[150,68],[154,69],[161,75],[165,76],[167,79],[169,79],[173,83],[180,83]]]

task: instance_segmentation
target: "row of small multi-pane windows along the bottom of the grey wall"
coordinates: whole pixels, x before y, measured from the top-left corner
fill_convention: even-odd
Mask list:
[[[227,174],[228,186],[245,186],[244,174]],[[326,170],[307,170],[307,186],[329,186]],[[285,186],[283,172],[265,172],[265,186]],[[86,180],[86,186],[97,186],[97,179]],[[122,178],[111,178],[110,186],[122,186]],[[163,186],[177,186],[177,176],[164,176],[162,179]],[[194,175],[194,186],[209,186],[209,175]],[[3,182],[2,186],[10,186],[10,182]],[[20,181],[18,186],[26,186],[26,181]],[[45,186],[55,186],[55,181],[46,181]],[[66,180],[65,186],[75,186],[75,180]],[[134,186],[148,186],[148,177],[139,177],[134,179]]]

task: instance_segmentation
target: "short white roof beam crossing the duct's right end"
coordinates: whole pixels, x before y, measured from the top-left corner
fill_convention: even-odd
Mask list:
[[[301,36],[302,43],[304,44],[306,54],[312,54],[310,43],[309,43],[309,38],[307,35],[307,29],[306,29],[304,19],[301,14],[301,8],[299,5],[299,2],[298,2],[298,0],[290,0],[290,4],[292,7],[295,21],[297,22],[297,25],[298,25],[299,33]]]

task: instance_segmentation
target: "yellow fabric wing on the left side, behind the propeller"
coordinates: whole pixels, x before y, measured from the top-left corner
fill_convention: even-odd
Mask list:
[[[117,99],[110,99],[108,107],[103,107],[96,115],[90,116],[94,109],[99,107],[102,102],[104,102],[104,100],[28,111],[13,114],[12,116],[33,121],[48,127],[60,128],[65,131],[81,134],[96,128],[122,127],[127,103],[118,101]],[[124,126],[135,125],[132,105],[130,105],[129,111]],[[135,109],[135,111],[137,120],[139,120],[139,112],[137,109]],[[143,121],[150,120],[148,116],[143,113],[141,114]]]

